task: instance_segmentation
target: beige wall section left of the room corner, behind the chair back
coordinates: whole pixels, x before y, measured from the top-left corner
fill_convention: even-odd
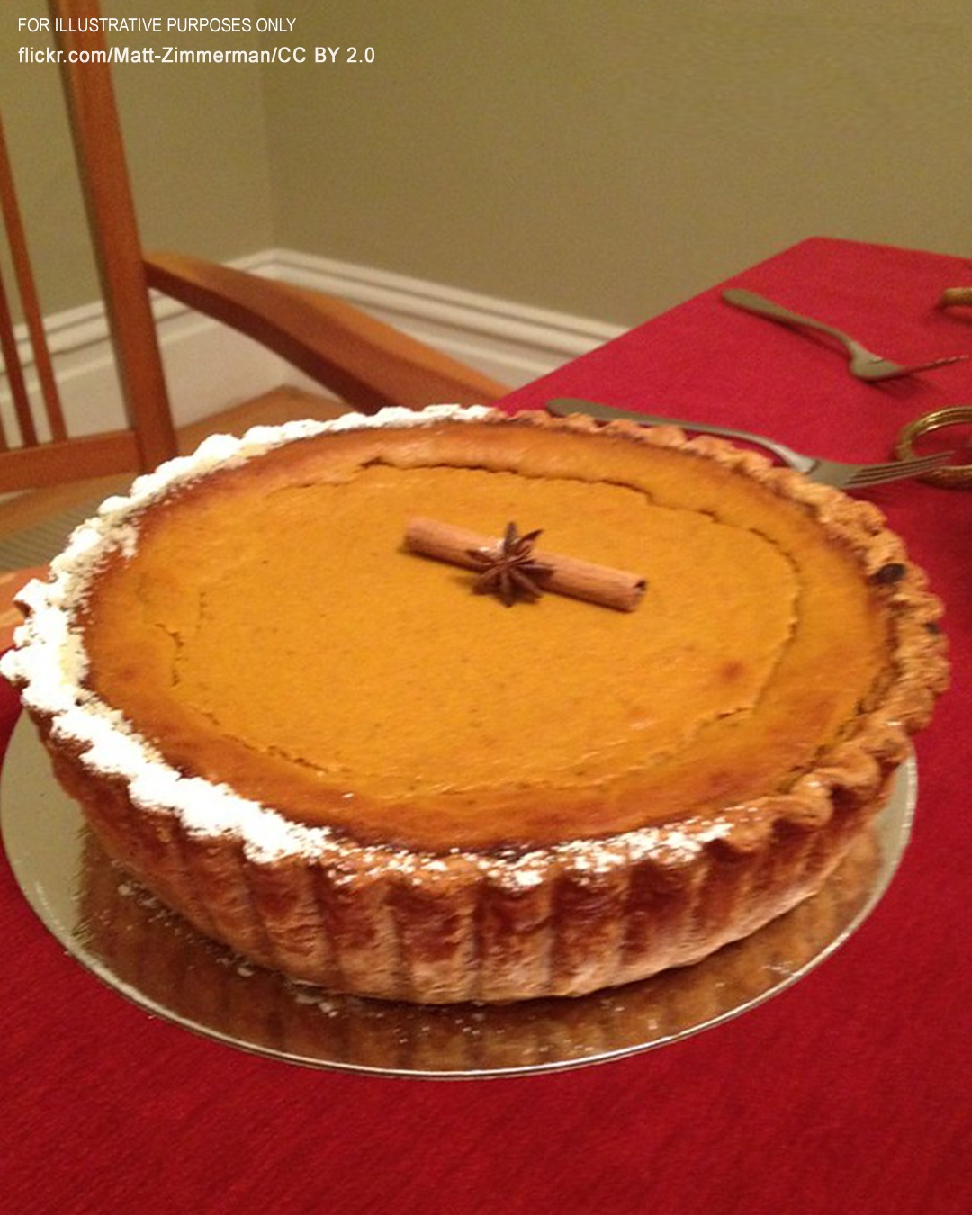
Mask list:
[[[106,16],[253,15],[254,0],[106,0]],[[24,64],[18,46],[53,46],[19,33],[17,18],[46,17],[44,0],[16,0],[0,17],[0,106],[45,311],[97,295],[84,214],[62,113],[56,67]],[[148,39],[125,35],[119,45]],[[211,46],[199,35],[154,38],[158,45]],[[256,46],[258,38],[236,45]],[[273,244],[262,80],[259,69],[192,64],[123,64],[114,69],[119,111],[140,213],[153,248],[232,258]]]

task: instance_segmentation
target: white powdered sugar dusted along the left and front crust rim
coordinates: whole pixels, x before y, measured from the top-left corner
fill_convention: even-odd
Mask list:
[[[32,581],[19,593],[18,600],[28,616],[15,633],[16,648],[0,660],[0,672],[21,689],[32,710],[50,720],[56,739],[70,740],[80,750],[81,762],[91,772],[126,779],[131,799],[141,809],[177,815],[191,835],[238,837],[248,859],[255,863],[294,857],[339,859],[346,849],[329,829],[293,823],[228,786],[181,775],[117,710],[87,691],[84,686],[87,656],[73,628],[73,614],[84,603],[101,563],[113,552],[125,555],[135,552],[141,513],[175,486],[217,467],[234,467],[283,443],[320,434],[420,426],[445,419],[475,422],[492,416],[493,411],[485,406],[386,408],[375,414],[343,414],[330,422],[255,426],[242,437],[207,439],[192,456],[177,457],[137,477],[128,495],[107,498],[92,519],[75,529],[67,548],[51,563],[50,580]],[[503,888],[529,891],[543,881],[552,863],[578,876],[597,877],[666,847],[678,864],[697,855],[708,840],[727,833],[728,821],[708,821],[699,831],[686,825],[678,838],[671,829],[643,829],[608,841],[563,844],[525,855],[486,858],[453,853],[450,864],[465,860],[475,869],[485,869]],[[419,869],[429,875],[436,864],[433,857],[378,846],[356,847],[355,854],[366,868],[391,868],[403,875]]]

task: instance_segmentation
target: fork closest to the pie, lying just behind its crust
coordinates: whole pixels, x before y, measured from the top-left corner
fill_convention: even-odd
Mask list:
[[[710,425],[706,422],[683,422],[679,418],[662,418],[651,413],[638,413],[634,409],[616,409],[611,405],[599,405],[594,401],[580,401],[572,397],[558,397],[547,402],[547,409],[560,418],[572,413],[586,413],[590,418],[601,422],[614,422],[623,419],[627,422],[640,422],[649,426],[679,426],[682,430],[691,430],[700,435],[723,435],[727,439],[738,439],[748,443],[757,443],[765,447],[790,468],[803,473],[808,481],[816,481],[818,485],[831,485],[838,490],[859,490],[871,485],[882,485],[886,481],[899,481],[910,476],[921,476],[932,469],[944,464],[951,452],[934,452],[931,456],[916,456],[912,459],[894,459],[882,464],[842,464],[838,460],[821,459],[816,456],[804,456],[793,451],[786,443],[776,439],[767,439],[765,435],[755,435],[748,430],[738,430],[733,426]]]

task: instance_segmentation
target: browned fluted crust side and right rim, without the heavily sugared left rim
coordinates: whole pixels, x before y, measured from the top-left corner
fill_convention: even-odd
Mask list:
[[[497,424],[510,424],[493,414]],[[515,425],[590,430],[583,418]],[[58,779],[109,855],[202,932],[334,991],[420,1002],[577,995],[693,962],[820,888],[885,802],[909,740],[946,683],[940,605],[881,513],[716,439],[626,423],[609,430],[739,469],[803,503],[850,549],[892,618],[892,671],[854,733],[785,795],[713,820],[628,832],[529,858],[440,857],[344,843],[254,859],[232,836],[135,806],[34,710]],[[16,680],[15,680],[16,682]]]

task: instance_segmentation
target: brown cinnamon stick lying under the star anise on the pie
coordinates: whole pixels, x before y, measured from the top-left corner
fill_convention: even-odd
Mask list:
[[[418,518],[408,521],[405,544],[423,556],[433,556],[467,570],[479,570],[480,565],[470,555],[470,549],[496,550],[499,541],[464,527],[440,522],[437,519]],[[645,593],[644,577],[627,570],[616,570],[543,549],[533,549],[531,555],[536,561],[550,567],[549,575],[543,580],[544,590],[584,599],[617,611],[633,611]]]

